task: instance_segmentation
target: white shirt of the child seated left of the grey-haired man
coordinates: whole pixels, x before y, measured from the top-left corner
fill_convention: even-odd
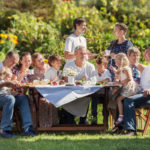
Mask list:
[[[60,71],[57,71],[55,68],[49,68],[45,73],[45,79],[54,80],[55,77],[60,77]]]

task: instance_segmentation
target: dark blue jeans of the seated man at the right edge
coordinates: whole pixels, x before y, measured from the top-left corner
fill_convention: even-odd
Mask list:
[[[135,108],[146,105],[150,105],[150,95],[144,97],[143,94],[137,94],[124,99],[124,129],[136,131]]]

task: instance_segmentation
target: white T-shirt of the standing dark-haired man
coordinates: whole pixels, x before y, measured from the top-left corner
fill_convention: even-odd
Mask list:
[[[65,41],[65,51],[74,53],[75,48],[77,46],[83,46],[87,49],[86,39],[83,36],[76,36],[75,34],[71,34]],[[74,59],[69,59],[67,62],[70,62]]]

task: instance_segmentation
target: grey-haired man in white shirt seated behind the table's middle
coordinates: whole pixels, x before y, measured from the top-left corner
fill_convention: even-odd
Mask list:
[[[83,46],[77,46],[75,48],[74,55],[76,59],[65,64],[63,74],[65,69],[71,68],[77,71],[75,80],[88,80],[92,76],[92,72],[95,71],[95,67],[86,60],[86,48]],[[73,123],[72,118],[73,117],[71,115],[68,118],[71,123]],[[84,124],[85,120],[85,117],[81,117],[80,124]]]

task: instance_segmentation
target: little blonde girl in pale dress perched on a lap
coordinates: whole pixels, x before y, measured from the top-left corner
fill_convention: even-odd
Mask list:
[[[137,86],[132,76],[131,68],[129,67],[129,61],[124,53],[119,53],[115,56],[115,63],[118,69],[116,70],[111,66],[111,69],[115,72],[116,80],[122,84],[122,90],[117,97],[117,104],[119,109],[119,118],[115,122],[116,125],[123,122],[123,106],[122,100],[125,97],[130,97],[136,94]],[[116,89],[114,89],[116,90]]]

